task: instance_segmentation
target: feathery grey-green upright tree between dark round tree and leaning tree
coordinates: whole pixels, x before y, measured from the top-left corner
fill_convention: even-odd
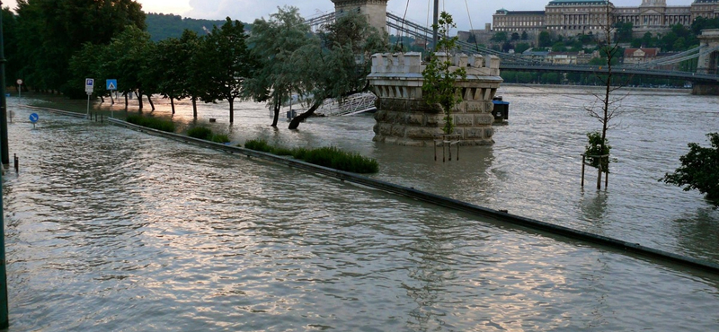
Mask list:
[[[247,94],[255,101],[268,101],[274,117],[272,127],[277,127],[282,104],[290,100],[293,89],[302,77],[293,74],[290,57],[310,42],[310,28],[299,15],[297,7],[278,8],[277,13],[253,23],[253,56],[260,59],[260,70],[248,81]]]

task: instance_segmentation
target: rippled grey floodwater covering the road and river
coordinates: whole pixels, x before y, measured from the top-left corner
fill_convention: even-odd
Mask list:
[[[377,179],[719,262],[717,211],[657,182],[688,143],[708,144],[719,98],[631,92],[598,191],[594,172],[579,183],[585,134],[599,127],[590,93],[500,92],[510,121],[496,144],[452,162],[373,143],[370,116],[289,131],[268,127],[260,104],[237,103],[230,125],[226,104],[200,105],[194,121],[180,102],[173,119],[234,143],[339,146],[377,158]],[[152,115],[169,118],[155,101]],[[21,162],[3,184],[11,331],[719,330],[718,275],[17,106],[30,102],[8,100]]]

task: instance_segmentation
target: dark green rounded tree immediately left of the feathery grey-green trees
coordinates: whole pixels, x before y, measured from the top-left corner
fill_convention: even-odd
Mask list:
[[[203,39],[200,50],[204,53],[205,63],[196,64],[200,66],[207,86],[202,100],[227,100],[230,123],[235,122],[235,100],[242,96],[244,81],[252,77],[258,66],[247,48],[246,39],[243,23],[227,17],[222,27],[212,28]]]

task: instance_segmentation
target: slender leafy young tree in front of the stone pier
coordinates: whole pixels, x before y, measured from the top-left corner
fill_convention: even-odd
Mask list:
[[[457,93],[455,83],[457,80],[466,79],[466,68],[453,67],[450,52],[457,49],[457,37],[448,38],[450,28],[456,25],[452,16],[442,12],[439,17],[439,41],[430,56],[430,62],[422,71],[424,83],[422,83],[422,96],[430,105],[439,105],[445,115],[445,125],[442,128],[445,134],[454,132],[452,122],[452,110],[462,101],[462,96]],[[443,52],[442,55],[436,53]]]

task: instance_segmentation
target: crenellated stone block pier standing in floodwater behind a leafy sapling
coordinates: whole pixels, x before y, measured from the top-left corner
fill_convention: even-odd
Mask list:
[[[502,83],[500,59],[465,54],[451,59],[451,71],[466,68],[466,80],[456,83],[463,101],[452,112],[454,134],[461,136],[464,145],[493,144],[492,99]],[[444,114],[439,106],[422,99],[424,68],[420,53],[372,56],[368,80],[378,97],[375,141],[425,146],[434,144],[434,135],[443,134]]]

